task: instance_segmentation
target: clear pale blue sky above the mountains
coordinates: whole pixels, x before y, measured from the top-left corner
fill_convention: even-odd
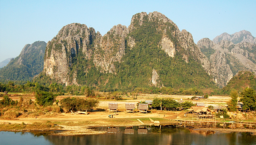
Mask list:
[[[194,42],[247,30],[256,37],[256,0],[0,0],[0,62],[16,57],[25,44],[50,41],[69,23],[101,35],[114,25],[129,26],[139,12],[158,11]]]

